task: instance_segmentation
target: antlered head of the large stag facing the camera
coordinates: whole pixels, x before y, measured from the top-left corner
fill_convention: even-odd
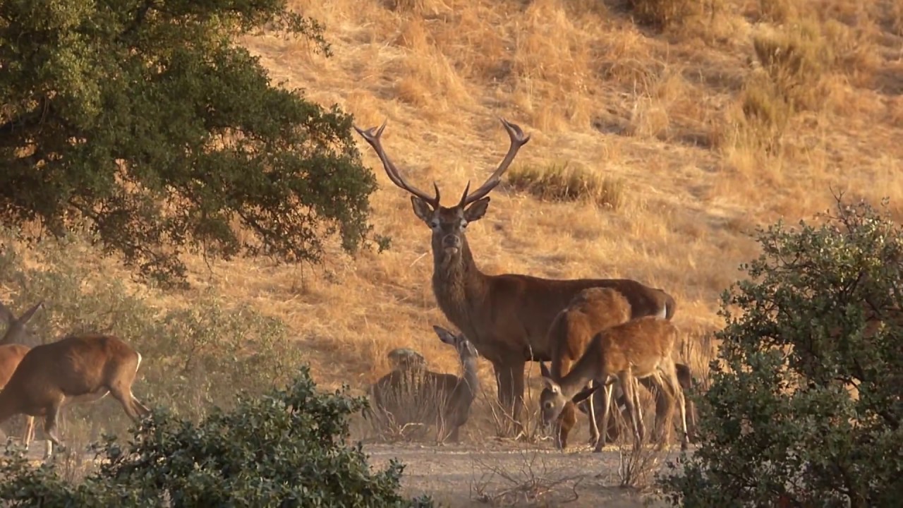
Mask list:
[[[362,130],[354,127],[360,136],[373,146],[376,150],[379,160],[382,161],[383,167],[386,168],[386,174],[389,180],[401,187],[408,193],[411,193],[411,203],[414,205],[414,214],[433,230],[433,255],[436,259],[441,259],[448,263],[455,259],[461,259],[461,253],[465,250],[467,239],[464,231],[467,225],[473,221],[479,221],[486,213],[489,207],[490,191],[496,188],[501,182],[501,176],[505,173],[511,161],[517,155],[517,150],[524,146],[530,140],[530,136],[526,136],[524,131],[517,125],[512,124],[500,118],[502,125],[505,126],[508,136],[511,138],[511,145],[508,147],[507,155],[502,159],[495,172],[489,175],[489,179],[479,186],[479,189],[470,192],[470,182],[464,188],[461,199],[454,206],[442,206],[439,203],[439,186],[433,182],[435,195],[430,195],[424,191],[414,187],[408,183],[398,171],[395,164],[392,163],[386,151],[380,143],[379,137],[386,128],[386,122],[380,127],[370,127]]]

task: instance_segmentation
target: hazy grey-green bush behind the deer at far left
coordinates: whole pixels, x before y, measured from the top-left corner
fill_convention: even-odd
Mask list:
[[[231,408],[237,388],[261,394],[291,380],[303,354],[282,321],[247,303],[227,306],[213,289],[187,305],[152,304],[172,294],[127,286],[115,275],[127,272],[111,275],[98,266],[100,253],[89,244],[69,235],[26,252],[13,231],[0,229],[0,284],[13,294],[5,303],[17,312],[45,303],[29,324],[36,342],[79,331],[114,334],[143,357],[135,396],[193,420],[210,405]],[[130,421],[112,400],[73,406],[64,415],[82,424],[64,429],[64,441],[78,437],[88,421],[96,432],[122,432]]]

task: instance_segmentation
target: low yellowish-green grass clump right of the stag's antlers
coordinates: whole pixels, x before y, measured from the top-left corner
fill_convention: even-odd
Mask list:
[[[507,182],[541,200],[588,201],[611,210],[620,208],[624,200],[622,180],[602,176],[582,165],[520,165],[511,168]]]

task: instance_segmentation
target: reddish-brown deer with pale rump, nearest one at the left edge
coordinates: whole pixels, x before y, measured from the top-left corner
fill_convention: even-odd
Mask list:
[[[44,433],[50,440],[45,456],[49,457],[51,443],[65,449],[56,435],[63,405],[100,400],[112,393],[129,418],[138,421],[150,412],[132,395],[140,364],[141,354],[112,335],[70,334],[36,345],[0,391],[0,423],[17,414],[44,417]]]

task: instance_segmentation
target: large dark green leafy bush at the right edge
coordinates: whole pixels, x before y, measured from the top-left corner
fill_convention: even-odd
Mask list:
[[[662,479],[673,503],[903,499],[903,231],[864,202],[840,201],[820,224],[760,231],[763,253],[743,267],[750,279],[723,296],[702,444]]]

